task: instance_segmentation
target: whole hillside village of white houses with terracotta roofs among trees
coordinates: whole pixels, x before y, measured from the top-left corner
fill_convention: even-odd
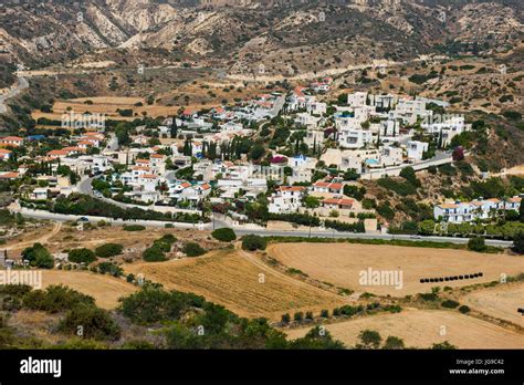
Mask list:
[[[64,136],[0,138],[0,179],[17,185],[19,205],[30,209],[54,210],[56,198],[84,194],[193,223],[214,212],[237,225],[387,232],[388,218],[360,181],[463,159],[454,139],[471,124],[447,114],[447,102],[419,96],[355,92],[323,101],[332,82],[234,106],[188,107],[158,124],[107,128],[104,116],[70,112]],[[521,196],[505,199],[436,201],[432,219],[461,223],[518,211]]]

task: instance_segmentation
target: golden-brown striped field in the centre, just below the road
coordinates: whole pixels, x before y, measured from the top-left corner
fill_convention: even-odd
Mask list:
[[[202,295],[248,318],[280,320],[286,312],[319,311],[345,303],[336,294],[254,264],[237,250],[214,251],[197,259],[132,263],[124,269],[166,289]]]

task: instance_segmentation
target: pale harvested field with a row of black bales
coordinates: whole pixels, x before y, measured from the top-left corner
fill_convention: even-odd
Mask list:
[[[431,287],[462,287],[499,280],[502,273],[524,271],[524,257],[483,254],[465,250],[431,249],[357,243],[280,243],[268,252],[289,268],[310,277],[357,292],[404,296],[428,292]],[[402,287],[361,285],[360,271],[391,270],[402,272]],[[420,283],[422,278],[444,278],[482,272],[482,278],[438,283]]]

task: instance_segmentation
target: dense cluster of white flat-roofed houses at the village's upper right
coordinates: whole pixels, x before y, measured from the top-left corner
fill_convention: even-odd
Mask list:
[[[438,137],[441,147],[469,128],[462,115],[433,114],[433,110],[428,108],[430,104],[448,105],[438,100],[356,92],[347,95],[345,105],[332,106],[331,115],[327,103],[318,102],[314,95],[306,95],[304,89],[297,87],[289,96],[285,111],[295,113],[296,124],[306,128],[308,146],[319,146],[326,133],[333,136],[338,148],[324,154],[326,164],[365,173],[369,168],[425,159],[429,143],[413,139],[416,124],[422,134]]]

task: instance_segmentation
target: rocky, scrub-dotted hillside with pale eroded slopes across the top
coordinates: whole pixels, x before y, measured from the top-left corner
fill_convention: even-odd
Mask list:
[[[263,63],[282,74],[436,52],[509,51],[524,32],[520,0],[229,3],[11,3],[0,7],[0,59],[40,67],[107,49],[157,48],[166,56],[226,60],[237,73]]]

